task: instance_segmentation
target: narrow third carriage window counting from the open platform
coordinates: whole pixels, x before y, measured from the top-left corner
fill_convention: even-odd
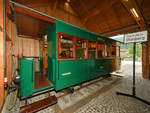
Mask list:
[[[95,59],[96,58],[96,42],[95,41],[89,41],[89,59]]]

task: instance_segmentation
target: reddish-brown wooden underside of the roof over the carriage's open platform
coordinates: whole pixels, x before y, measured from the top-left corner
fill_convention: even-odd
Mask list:
[[[39,39],[43,31],[50,25],[48,21],[18,12],[16,12],[16,24],[18,36],[35,39]]]

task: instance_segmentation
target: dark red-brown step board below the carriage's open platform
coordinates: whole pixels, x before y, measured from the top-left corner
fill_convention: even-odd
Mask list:
[[[20,108],[20,113],[34,113],[56,103],[57,103],[56,96],[50,96],[48,98],[42,99],[32,104],[22,106]]]

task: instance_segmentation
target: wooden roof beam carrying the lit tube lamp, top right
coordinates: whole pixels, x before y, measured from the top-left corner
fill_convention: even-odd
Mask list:
[[[132,15],[136,23],[139,25],[139,27],[144,30],[147,28],[147,23],[144,20],[144,17],[142,15],[142,10],[137,4],[136,0],[121,0],[125,8],[128,10],[128,12]]]

